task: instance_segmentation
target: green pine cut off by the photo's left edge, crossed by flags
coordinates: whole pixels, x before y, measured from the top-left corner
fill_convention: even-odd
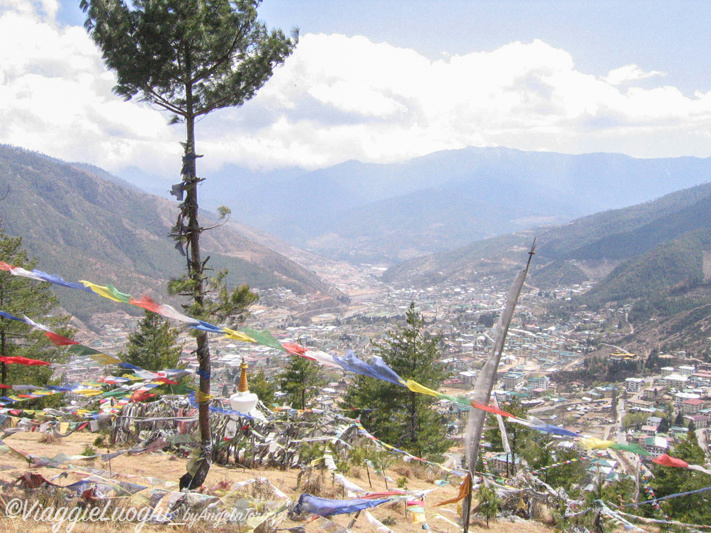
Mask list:
[[[10,237],[0,228],[0,259],[7,264],[32,270],[36,264],[28,259],[21,237]],[[60,335],[71,335],[69,317],[54,314],[58,299],[49,284],[0,271],[0,311],[28,318],[48,326]],[[54,346],[41,330],[25,322],[0,318],[0,354],[21,356],[53,363],[66,359],[66,350]],[[52,377],[52,366],[0,364],[2,383],[16,385],[46,385]]]

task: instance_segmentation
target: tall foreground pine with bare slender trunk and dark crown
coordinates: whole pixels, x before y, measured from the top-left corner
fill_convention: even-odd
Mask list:
[[[116,72],[114,92],[139,97],[172,114],[173,122],[185,124],[182,183],[175,188],[181,200],[172,229],[186,260],[186,275],[173,286],[188,295],[188,310],[209,321],[210,284],[207,259],[202,259],[198,220],[198,177],[195,121],[212,111],[240,106],[254,96],[274,68],[291,54],[297,34],[287,38],[280,30],[267,31],[257,20],[261,0],[81,0],[86,28],[102,50],[104,62]],[[222,214],[228,210],[224,208]],[[240,312],[248,290],[221,294],[220,304],[236,304]],[[224,305],[223,305],[224,304]],[[229,313],[228,313],[229,314]],[[202,395],[210,394],[210,347],[207,333],[198,331],[196,354]],[[198,488],[210,469],[211,437],[209,405],[199,402],[201,456],[193,473],[181,479],[181,487]]]

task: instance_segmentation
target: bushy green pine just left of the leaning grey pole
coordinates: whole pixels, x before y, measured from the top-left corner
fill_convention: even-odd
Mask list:
[[[375,344],[375,353],[403,379],[436,390],[448,375],[439,361],[440,338],[427,334],[414,302],[405,318],[404,327]],[[346,391],[343,403],[368,410],[362,412],[361,422],[388,444],[420,457],[436,457],[449,449],[444,415],[436,411],[432,396],[359,375]]]

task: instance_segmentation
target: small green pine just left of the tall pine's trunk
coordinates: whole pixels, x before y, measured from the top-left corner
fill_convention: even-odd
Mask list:
[[[129,335],[126,351],[118,356],[145,370],[179,368],[183,351],[183,345],[178,344],[179,334],[165,318],[146,311],[138,329]]]

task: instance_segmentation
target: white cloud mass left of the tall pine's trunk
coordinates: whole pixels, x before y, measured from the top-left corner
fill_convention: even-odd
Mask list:
[[[114,171],[159,170],[165,141],[175,158],[178,132],[167,117],[114,96],[115,79],[84,29],[58,26],[58,4],[41,4],[35,11],[20,0],[0,11],[0,142]]]

